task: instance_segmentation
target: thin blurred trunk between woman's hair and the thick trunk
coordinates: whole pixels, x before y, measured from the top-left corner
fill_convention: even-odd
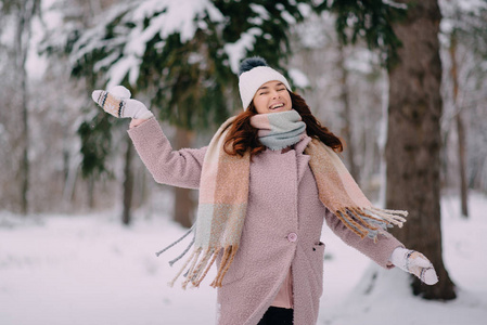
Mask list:
[[[353,134],[351,134],[351,112],[350,112],[350,101],[349,101],[349,88],[348,88],[348,72],[345,67],[345,52],[342,43],[338,43],[338,66],[342,73],[342,78],[339,79],[341,84],[341,94],[339,99],[343,104],[342,116],[345,122],[344,129],[342,130],[342,134],[345,136],[345,142],[347,144],[346,156],[349,164],[349,171],[351,177],[359,182],[359,171],[357,165],[355,164],[355,146],[353,143]]]

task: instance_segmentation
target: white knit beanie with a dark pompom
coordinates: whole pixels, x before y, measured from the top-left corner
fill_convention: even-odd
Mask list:
[[[264,58],[254,56],[242,61],[240,65],[239,90],[243,109],[247,109],[260,86],[274,80],[281,81],[291,91],[287,79],[269,67]]]

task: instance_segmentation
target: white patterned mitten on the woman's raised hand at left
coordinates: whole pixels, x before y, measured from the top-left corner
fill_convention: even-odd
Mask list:
[[[154,116],[144,104],[130,100],[130,91],[124,86],[116,86],[110,91],[95,90],[91,98],[103,110],[115,117],[148,119]]]

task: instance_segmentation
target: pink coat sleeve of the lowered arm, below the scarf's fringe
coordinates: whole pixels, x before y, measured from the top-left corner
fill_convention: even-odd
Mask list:
[[[354,247],[379,265],[392,269],[389,258],[394,249],[405,247],[402,243],[396,239],[389,233],[379,234],[377,242],[369,237],[360,238],[356,233],[349,230],[333,212],[326,209],[325,220],[328,226],[335,233],[345,244]]]

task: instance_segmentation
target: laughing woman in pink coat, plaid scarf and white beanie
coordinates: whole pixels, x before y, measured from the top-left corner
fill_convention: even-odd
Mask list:
[[[183,287],[198,286],[217,260],[218,324],[316,324],[323,219],[380,265],[437,282],[423,255],[385,231],[401,226],[407,213],[367,200],[335,154],[342,142],[283,75],[262,58],[247,58],[239,88],[245,110],[227,120],[209,146],[180,151],[126,89],[92,94],[107,113],[132,118],[129,135],[157,182],[200,188],[194,248],[172,283],[184,274]]]

